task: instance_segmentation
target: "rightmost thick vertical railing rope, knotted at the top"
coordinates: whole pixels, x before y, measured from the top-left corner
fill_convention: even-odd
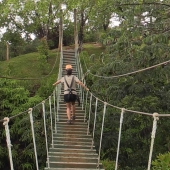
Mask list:
[[[150,146],[150,153],[149,153],[149,160],[148,160],[148,169],[151,169],[151,161],[152,161],[152,153],[153,153],[153,145],[154,145],[154,140],[155,140],[155,135],[156,135],[156,129],[157,129],[157,120],[159,120],[159,114],[154,113],[153,117],[153,127],[152,127],[152,134],[151,134],[151,146]]]

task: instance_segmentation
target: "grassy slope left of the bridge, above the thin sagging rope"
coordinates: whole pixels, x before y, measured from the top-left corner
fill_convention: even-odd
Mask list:
[[[9,61],[3,61],[0,63],[0,76],[14,78],[40,78],[51,71],[56,58],[56,65],[58,65],[59,57],[57,51],[50,51],[49,61],[44,67],[42,67],[42,61],[39,59],[38,53],[20,55]]]

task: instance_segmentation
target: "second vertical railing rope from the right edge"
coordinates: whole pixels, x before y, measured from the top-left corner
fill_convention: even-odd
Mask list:
[[[125,109],[121,109],[121,116],[120,116],[120,126],[119,126],[119,137],[118,137],[118,144],[117,144],[117,155],[116,155],[116,164],[115,164],[115,170],[117,170],[118,167],[118,160],[119,160],[119,149],[120,149],[120,139],[121,139],[121,133],[122,133],[122,124],[123,124],[123,114]]]

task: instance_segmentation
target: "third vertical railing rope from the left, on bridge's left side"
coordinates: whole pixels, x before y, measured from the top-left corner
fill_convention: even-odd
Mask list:
[[[47,129],[46,129],[46,116],[45,116],[45,101],[42,102],[42,109],[43,109],[43,118],[44,118],[44,132],[45,132],[45,143],[46,143],[46,151],[47,151],[47,164],[48,164],[48,168],[50,168],[49,155],[48,155],[48,141],[47,141]]]

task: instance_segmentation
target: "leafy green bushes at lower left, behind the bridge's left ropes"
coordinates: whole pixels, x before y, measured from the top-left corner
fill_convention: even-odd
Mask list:
[[[0,119],[4,117],[11,117],[17,115],[28,108],[34,107],[33,119],[34,119],[34,131],[36,136],[37,153],[40,166],[44,167],[44,160],[46,159],[44,127],[43,127],[43,115],[41,102],[42,97],[35,95],[29,98],[28,90],[20,86],[17,81],[14,80],[1,80],[0,98],[3,99],[0,103]],[[39,105],[37,105],[39,104]],[[36,107],[35,107],[36,106]],[[48,110],[48,102],[46,104]],[[29,120],[29,115],[26,111],[20,116],[10,120],[10,137],[12,142],[12,154],[14,167],[18,169],[35,169],[34,147],[32,143],[32,132]],[[50,117],[49,113],[46,113],[47,130],[50,130]],[[2,169],[9,169],[8,167],[8,155],[6,151],[6,140],[4,135],[4,128],[1,128],[0,133],[3,134],[0,138],[0,166]],[[50,135],[50,134],[48,134]],[[48,137],[49,143],[50,138]],[[4,154],[6,153],[6,154]]]

